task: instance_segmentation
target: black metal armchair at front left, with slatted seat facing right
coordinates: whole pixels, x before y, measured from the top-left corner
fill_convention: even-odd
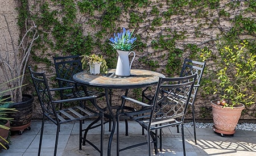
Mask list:
[[[38,73],[30,69],[30,74],[32,81],[35,86],[36,93],[38,94],[38,99],[40,102],[40,106],[43,111],[43,120],[42,120],[42,128],[40,133],[40,141],[39,141],[39,150],[38,155],[41,153],[42,147],[42,139],[43,139],[43,132],[44,132],[44,121],[48,118],[52,121],[55,125],[57,125],[56,130],[56,138],[55,138],[55,149],[54,154],[57,153],[57,144],[59,140],[59,132],[60,132],[60,125],[65,124],[71,121],[79,121],[79,150],[82,149],[82,140],[88,142],[88,144],[92,145],[97,151],[100,152],[100,155],[103,155],[103,136],[104,136],[104,111],[96,104],[96,96],[85,96],[79,98],[69,98],[69,99],[61,99],[55,100],[53,99],[52,92],[66,90],[72,87],[63,87],[63,88],[49,88],[48,82],[46,79],[46,75],[43,73]],[[92,113],[90,110],[85,109],[84,107],[80,106],[80,102],[84,102],[85,100],[93,100],[94,107],[97,108],[98,112]],[[65,108],[60,109],[60,104],[62,103],[73,103],[72,108]],[[100,149],[94,145],[91,141],[85,140],[82,137],[82,132],[87,130],[82,129],[82,120],[84,119],[95,119],[96,117],[100,117],[101,119],[101,145]]]

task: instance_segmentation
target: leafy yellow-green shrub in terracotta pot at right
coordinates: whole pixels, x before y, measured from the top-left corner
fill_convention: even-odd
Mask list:
[[[219,99],[211,102],[213,130],[224,134],[234,134],[241,112],[245,106],[254,104],[256,82],[256,54],[246,49],[248,42],[229,45],[219,49],[216,58],[217,78],[214,94]]]

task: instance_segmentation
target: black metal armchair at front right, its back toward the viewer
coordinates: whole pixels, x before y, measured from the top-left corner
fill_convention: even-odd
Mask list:
[[[183,153],[185,155],[183,123],[196,78],[196,74],[178,78],[159,78],[154,98],[149,104],[122,96],[122,106],[124,106],[126,101],[143,106],[143,109],[140,111],[128,112],[124,113],[124,115],[136,121],[143,129],[147,130],[147,141],[119,149],[119,116],[117,115],[117,155],[119,155],[120,151],[146,144],[148,145],[148,155],[151,155],[150,137],[154,143],[155,154],[158,154],[158,138],[160,150],[162,151],[162,133],[158,136],[158,129],[161,132],[162,128],[174,125],[181,125]]]

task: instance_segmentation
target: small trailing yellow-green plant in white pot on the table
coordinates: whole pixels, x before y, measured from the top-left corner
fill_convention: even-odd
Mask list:
[[[108,66],[106,65],[106,60],[102,56],[92,54],[89,56],[82,55],[81,57],[82,69],[84,69],[86,65],[89,65],[91,74],[108,73]]]

